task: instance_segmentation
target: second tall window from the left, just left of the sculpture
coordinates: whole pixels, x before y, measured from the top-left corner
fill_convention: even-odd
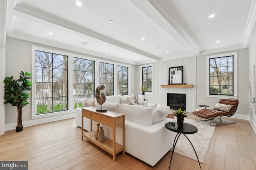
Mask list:
[[[73,58],[73,108],[82,107],[82,100],[95,94],[95,61]]]

